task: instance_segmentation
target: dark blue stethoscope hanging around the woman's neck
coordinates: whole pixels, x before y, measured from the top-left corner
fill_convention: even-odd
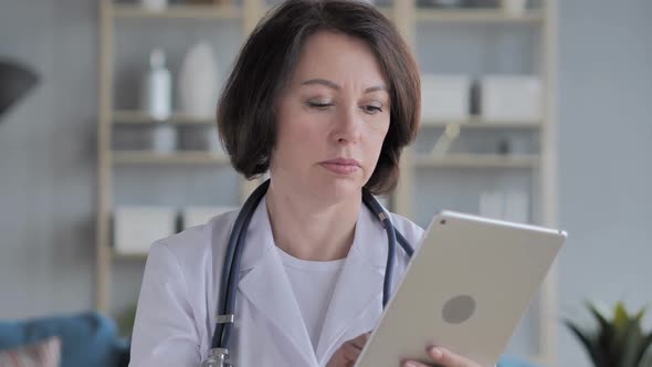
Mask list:
[[[246,238],[249,222],[251,221],[251,218],[253,217],[253,213],[262,198],[265,196],[265,192],[267,192],[269,187],[270,180],[267,179],[252,192],[252,195],[242,206],[242,209],[240,209],[238,218],[235,219],[235,223],[233,224],[233,229],[231,230],[227,253],[224,255],[224,266],[222,269],[220,297],[218,303],[219,313],[215,321],[215,331],[213,333],[209,356],[201,364],[203,367],[233,366],[232,364],[228,363],[228,359],[229,345],[231,342],[231,329],[235,319],[235,293],[238,293],[240,260],[244,249],[244,240]],[[382,307],[385,308],[391,296],[392,271],[395,265],[397,240],[409,258],[412,256],[414,250],[412,247],[410,247],[406,238],[393,228],[391,219],[385,209],[382,209],[382,206],[365,188],[362,188],[362,202],[376,217],[378,217],[382,223],[382,227],[385,228],[385,231],[387,232],[388,255],[387,265],[385,269],[385,281],[382,284]]]

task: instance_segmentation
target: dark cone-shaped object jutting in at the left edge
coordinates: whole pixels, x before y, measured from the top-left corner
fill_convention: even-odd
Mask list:
[[[38,83],[39,76],[27,66],[0,61],[0,117]]]

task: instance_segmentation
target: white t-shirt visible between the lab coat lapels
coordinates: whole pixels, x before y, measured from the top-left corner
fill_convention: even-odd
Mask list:
[[[278,254],[313,343],[313,349],[316,350],[326,312],[328,312],[345,259],[307,261],[294,258],[281,249]]]

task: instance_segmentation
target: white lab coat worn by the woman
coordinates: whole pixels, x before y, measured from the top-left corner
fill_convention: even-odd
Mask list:
[[[211,347],[222,259],[236,211],[151,245],[132,339],[132,367],[196,367]],[[423,230],[392,214],[410,244]],[[398,245],[397,245],[398,247]],[[395,287],[408,264],[397,248]],[[272,238],[264,199],[246,234],[231,339],[236,367],[325,366],[341,346],[371,331],[382,312],[387,235],[362,206],[355,240],[313,349]]]

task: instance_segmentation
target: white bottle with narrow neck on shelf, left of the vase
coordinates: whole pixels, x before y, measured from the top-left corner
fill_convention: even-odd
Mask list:
[[[162,50],[154,49],[149,55],[149,70],[141,87],[143,111],[155,119],[170,116],[172,104],[172,77],[166,67]]]

